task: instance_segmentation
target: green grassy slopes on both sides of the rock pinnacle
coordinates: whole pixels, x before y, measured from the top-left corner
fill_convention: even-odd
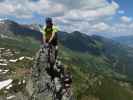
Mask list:
[[[21,51],[34,56],[40,44],[31,38],[19,41],[0,39],[0,47]],[[113,77],[125,78],[115,73],[112,63],[104,55],[79,53],[60,45],[59,56],[73,75],[73,91],[77,100],[133,100],[131,88],[121,86]]]

